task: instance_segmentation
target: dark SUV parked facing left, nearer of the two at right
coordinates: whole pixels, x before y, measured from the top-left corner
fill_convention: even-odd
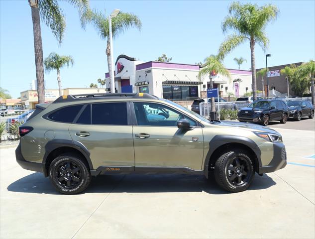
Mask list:
[[[282,100],[257,100],[240,109],[237,119],[240,122],[252,121],[268,125],[272,120],[286,123],[289,114],[289,107]]]

